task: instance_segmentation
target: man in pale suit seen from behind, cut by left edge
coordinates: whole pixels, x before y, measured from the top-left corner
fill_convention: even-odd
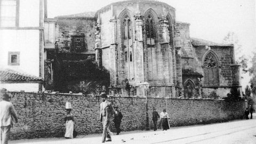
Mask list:
[[[2,93],[2,90],[1,90]],[[2,95],[2,101],[0,102],[0,115],[1,115],[1,135],[2,144],[7,144],[10,136],[10,130],[13,126],[12,117],[15,122],[18,123],[18,116],[15,109],[10,101],[8,94],[4,93]]]

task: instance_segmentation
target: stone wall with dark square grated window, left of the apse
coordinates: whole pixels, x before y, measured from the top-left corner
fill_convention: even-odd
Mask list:
[[[94,12],[83,17],[76,15],[59,16],[58,48],[63,52],[94,52]]]

